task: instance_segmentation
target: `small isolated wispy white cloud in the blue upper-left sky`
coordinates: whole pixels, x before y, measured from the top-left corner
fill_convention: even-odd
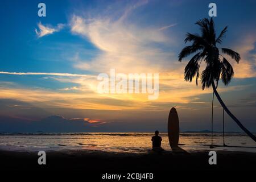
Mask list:
[[[63,27],[64,27],[64,24],[62,24],[62,23],[57,24],[57,27],[53,28],[53,27],[49,27],[49,26],[48,27],[44,26],[41,22],[39,22],[38,23],[39,30],[37,30],[35,28],[35,32],[39,38],[42,38],[43,36],[53,34],[54,32],[60,31]]]

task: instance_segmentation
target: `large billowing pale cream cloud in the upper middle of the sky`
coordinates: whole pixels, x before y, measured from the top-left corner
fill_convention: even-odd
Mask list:
[[[110,68],[115,68],[121,73],[131,70],[158,73],[170,68],[167,63],[171,58],[176,60],[175,53],[159,48],[174,43],[170,36],[159,31],[159,27],[129,21],[129,15],[146,4],[147,1],[140,1],[125,6],[124,13],[119,17],[115,13],[106,16],[102,12],[93,15],[93,18],[73,15],[69,23],[72,33],[89,40],[101,51],[92,60],[76,62],[74,67],[94,72],[108,72]]]

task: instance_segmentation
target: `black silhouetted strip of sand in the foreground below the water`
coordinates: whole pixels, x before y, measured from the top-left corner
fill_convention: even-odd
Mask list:
[[[46,165],[38,164],[37,152],[0,151],[2,170],[85,172],[173,172],[256,170],[256,153],[217,151],[217,165],[209,165],[208,151],[130,154],[102,151],[47,152]]]

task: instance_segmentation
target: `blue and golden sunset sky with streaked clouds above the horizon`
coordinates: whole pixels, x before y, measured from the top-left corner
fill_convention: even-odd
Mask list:
[[[171,107],[181,131],[210,130],[212,89],[185,82],[189,57],[180,63],[177,56],[185,34],[199,32],[195,22],[209,18],[212,1],[42,1],[46,17],[38,16],[40,2],[1,1],[0,131],[56,118],[84,121],[84,131],[166,131]],[[228,57],[234,78],[228,86],[220,82],[218,92],[256,132],[256,2],[214,3],[216,31],[228,26],[220,47],[241,55],[239,64]],[[159,97],[98,93],[97,76],[110,69],[159,73]],[[228,115],[225,121],[226,131],[241,131]],[[214,130],[221,129],[215,100]]]

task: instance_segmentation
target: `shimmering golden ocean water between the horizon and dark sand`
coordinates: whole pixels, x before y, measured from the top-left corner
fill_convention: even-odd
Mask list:
[[[153,133],[1,133],[0,150],[9,151],[69,151],[100,150],[144,154],[151,150]],[[171,151],[168,134],[160,133],[162,147]],[[188,152],[199,150],[228,150],[256,152],[255,142],[246,134],[226,133],[229,147],[210,149],[209,133],[180,133],[180,147]],[[221,133],[214,133],[213,144],[222,145]]]

